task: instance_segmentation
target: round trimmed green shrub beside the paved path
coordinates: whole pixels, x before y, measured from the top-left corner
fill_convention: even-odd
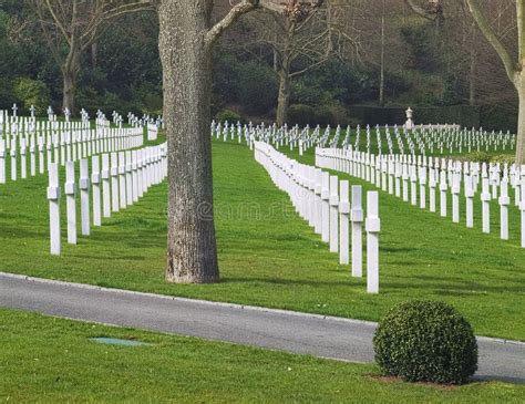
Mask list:
[[[373,348],[384,374],[409,382],[463,384],[477,370],[472,327],[444,302],[397,305],[380,322]]]

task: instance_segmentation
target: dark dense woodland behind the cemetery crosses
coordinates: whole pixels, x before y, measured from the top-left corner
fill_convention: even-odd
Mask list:
[[[483,2],[497,33],[515,41],[515,2]],[[216,3],[219,18],[228,1]],[[332,0],[295,32],[269,12],[244,15],[216,46],[213,113],[272,122],[286,84],[289,124],[399,124],[410,105],[416,123],[515,131],[517,96],[498,58],[463,0],[443,9],[439,23],[403,0]],[[112,22],[82,54],[78,107],[159,114],[157,43],[153,12]],[[60,111],[62,86],[30,2],[0,0],[0,108]]]

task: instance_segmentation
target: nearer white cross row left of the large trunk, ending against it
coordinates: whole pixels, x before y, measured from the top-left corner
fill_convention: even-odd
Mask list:
[[[80,189],[81,234],[90,236],[91,225],[102,226],[109,218],[142,198],[152,185],[167,175],[166,144],[135,151],[104,153],[80,159],[80,170],[73,160],[65,163],[64,195],[66,203],[68,244],[78,240],[76,189]],[[51,255],[61,253],[60,166],[49,165],[48,200],[50,208]],[[79,180],[76,180],[79,174]],[[90,208],[90,194],[93,204]]]

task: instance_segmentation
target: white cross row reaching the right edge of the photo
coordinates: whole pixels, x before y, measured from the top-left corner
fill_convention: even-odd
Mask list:
[[[491,200],[500,205],[501,238],[508,239],[509,207],[521,210],[522,247],[525,248],[525,166],[454,162],[452,159],[411,155],[373,155],[341,148],[318,148],[316,165],[344,172],[374,184],[383,191],[447,216],[447,198],[452,197],[452,221],[460,222],[460,195],[465,198],[465,224],[474,227],[474,197],[482,203],[482,231],[491,231]],[[514,201],[509,189],[514,190]],[[450,194],[449,194],[450,193]],[[410,200],[409,200],[410,194]],[[429,203],[426,201],[429,197]]]

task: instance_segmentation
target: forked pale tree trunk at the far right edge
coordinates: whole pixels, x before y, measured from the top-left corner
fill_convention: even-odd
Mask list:
[[[516,20],[518,39],[518,59],[514,61],[504,43],[496,35],[488,20],[485,18],[477,0],[466,0],[469,9],[487,42],[494,48],[514,84],[519,100],[517,122],[516,164],[525,164],[525,0],[516,0]]]

